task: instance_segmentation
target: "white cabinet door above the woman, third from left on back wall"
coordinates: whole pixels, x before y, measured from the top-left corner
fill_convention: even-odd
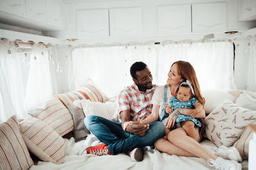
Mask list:
[[[191,33],[191,5],[157,7],[159,34]]]

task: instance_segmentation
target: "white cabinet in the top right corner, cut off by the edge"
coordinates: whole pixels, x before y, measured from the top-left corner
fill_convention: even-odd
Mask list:
[[[256,20],[256,0],[238,0],[238,20]]]

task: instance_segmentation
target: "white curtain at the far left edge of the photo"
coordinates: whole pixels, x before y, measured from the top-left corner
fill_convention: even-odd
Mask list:
[[[28,67],[23,66],[24,53],[18,51],[13,41],[0,39],[0,106],[1,120],[11,115],[24,118],[28,115],[25,99]]]

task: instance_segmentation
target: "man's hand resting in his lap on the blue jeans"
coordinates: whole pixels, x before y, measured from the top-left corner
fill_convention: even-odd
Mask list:
[[[138,136],[143,136],[145,132],[149,129],[149,124],[141,125],[140,118],[136,122],[132,122],[126,127],[126,132],[131,134],[136,134]]]

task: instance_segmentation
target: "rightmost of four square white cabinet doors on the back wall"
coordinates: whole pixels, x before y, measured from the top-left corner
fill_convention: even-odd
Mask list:
[[[192,4],[193,32],[223,32],[227,30],[226,3]]]

